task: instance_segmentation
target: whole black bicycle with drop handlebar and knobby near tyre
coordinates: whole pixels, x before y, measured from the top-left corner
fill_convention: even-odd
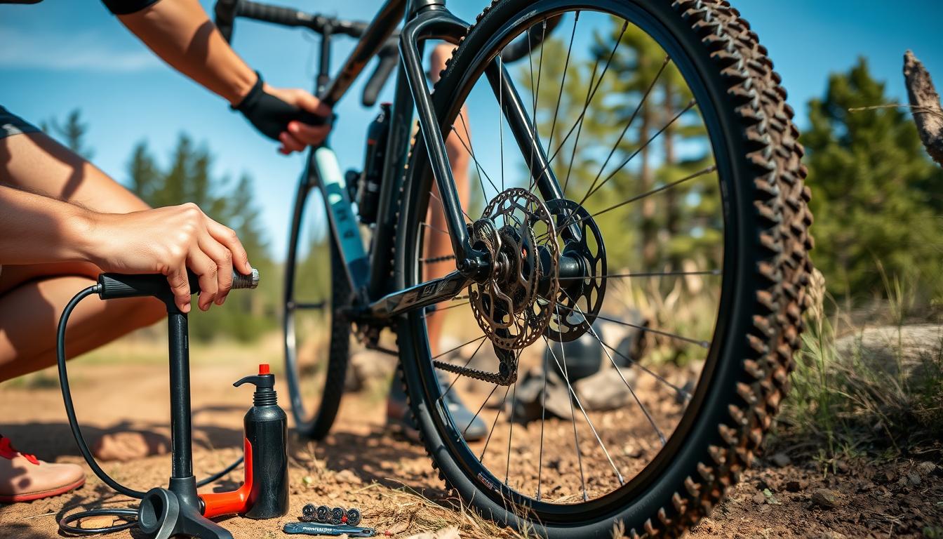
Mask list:
[[[388,0],[369,24],[244,0],[219,0],[216,13],[227,36],[236,17],[321,34],[318,94],[331,106],[373,57],[367,104],[396,68],[375,215],[361,214],[348,185],[370,175],[345,178],[326,144],[298,185],[283,312],[297,430],[329,430],[356,335],[399,356],[440,478],[500,524],[550,537],[614,526],[675,535],[720,502],[786,396],[812,271],[793,111],[736,9],[495,0],[473,25],[444,0]],[[336,34],[358,42],[332,79]],[[428,40],[457,45],[433,91]],[[462,112],[482,104],[497,114]],[[481,188],[464,207],[443,133],[473,161],[475,196]],[[580,146],[581,133],[591,144]],[[323,209],[314,227],[309,208]],[[435,234],[451,253],[430,251]],[[455,270],[430,278],[436,264]],[[648,306],[645,322],[627,322],[626,306]],[[439,351],[434,316],[458,342],[481,335]],[[642,335],[644,350],[613,342],[613,328]],[[304,343],[303,330],[314,335]],[[566,358],[579,340],[602,350],[600,372],[624,383],[624,406],[584,406],[590,395]],[[550,410],[548,383],[569,404]],[[464,440],[442,405],[451,391],[481,401],[487,440]]]

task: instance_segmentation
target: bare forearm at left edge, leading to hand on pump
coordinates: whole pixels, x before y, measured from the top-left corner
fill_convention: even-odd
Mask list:
[[[95,213],[0,185],[0,265],[91,261]]]

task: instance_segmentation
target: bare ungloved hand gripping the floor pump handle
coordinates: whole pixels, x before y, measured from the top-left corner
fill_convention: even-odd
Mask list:
[[[187,203],[132,213],[99,213],[92,225],[93,262],[105,271],[167,277],[174,303],[190,312],[187,268],[200,281],[198,305],[207,311],[223,305],[232,287],[233,268],[252,272],[236,232]]]

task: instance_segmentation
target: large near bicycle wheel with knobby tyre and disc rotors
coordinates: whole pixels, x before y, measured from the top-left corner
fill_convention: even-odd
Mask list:
[[[501,75],[537,126],[515,132],[485,70],[560,15],[560,37]],[[480,513],[551,537],[674,536],[751,463],[786,395],[811,271],[802,146],[779,82],[720,0],[498,0],[455,50],[434,105],[472,160],[469,220],[494,223],[473,237],[500,264],[449,309],[410,313],[399,343],[430,456]],[[539,159],[515,143],[530,136],[564,200],[535,189]],[[426,225],[440,210],[422,140],[409,172],[404,287],[444,233]],[[582,273],[560,278],[550,260]],[[448,317],[455,345],[429,342],[429,316]],[[639,336],[647,345],[621,345]],[[581,341],[607,381],[577,380],[585,358],[566,354]],[[502,363],[516,378],[494,376]],[[450,391],[487,419],[486,440],[464,441],[440,406]],[[601,391],[621,400],[591,405]]]

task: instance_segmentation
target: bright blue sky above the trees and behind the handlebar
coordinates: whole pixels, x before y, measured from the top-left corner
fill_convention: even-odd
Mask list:
[[[655,0],[653,0],[655,1]],[[379,0],[344,2],[280,0],[308,10],[366,19]],[[212,2],[204,0],[205,8]],[[938,0],[735,0],[769,48],[784,77],[789,101],[805,124],[809,99],[824,92],[830,73],[845,71],[859,56],[869,59],[888,93],[905,100],[902,55],[910,48],[943,84]],[[484,0],[450,0],[449,8],[472,20]],[[339,41],[339,64],[352,42]],[[242,22],[235,48],[276,86],[309,88],[315,43],[300,29]],[[361,81],[362,82],[362,81]],[[343,168],[359,167],[362,141],[373,110],[363,109],[356,86],[337,109],[333,146]],[[386,90],[389,98],[389,88]],[[302,158],[282,157],[215,95],[176,74],[94,0],[45,0],[36,6],[0,4],[0,105],[39,123],[82,109],[91,124],[94,162],[124,180],[135,143],[147,140],[165,159],[180,132],[207,143],[216,172],[255,178],[256,199],[273,245],[283,258],[293,186]]]

